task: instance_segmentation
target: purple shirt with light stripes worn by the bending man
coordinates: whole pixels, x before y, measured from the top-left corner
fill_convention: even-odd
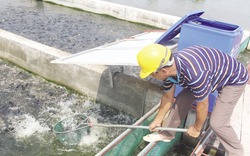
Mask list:
[[[193,46],[174,53],[174,59],[177,78],[164,80],[164,91],[177,83],[192,91],[197,102],[224,86],[243,85],[248,80],[246,68],[217,49]]]

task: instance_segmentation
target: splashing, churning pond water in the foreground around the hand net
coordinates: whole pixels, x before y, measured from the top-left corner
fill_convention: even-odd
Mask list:
[[[73,114],[92,122],[135,119],[0,60],[0,155],[95,155],[124,129],[93,127],[76,146],[62,144],[53,126]]]

